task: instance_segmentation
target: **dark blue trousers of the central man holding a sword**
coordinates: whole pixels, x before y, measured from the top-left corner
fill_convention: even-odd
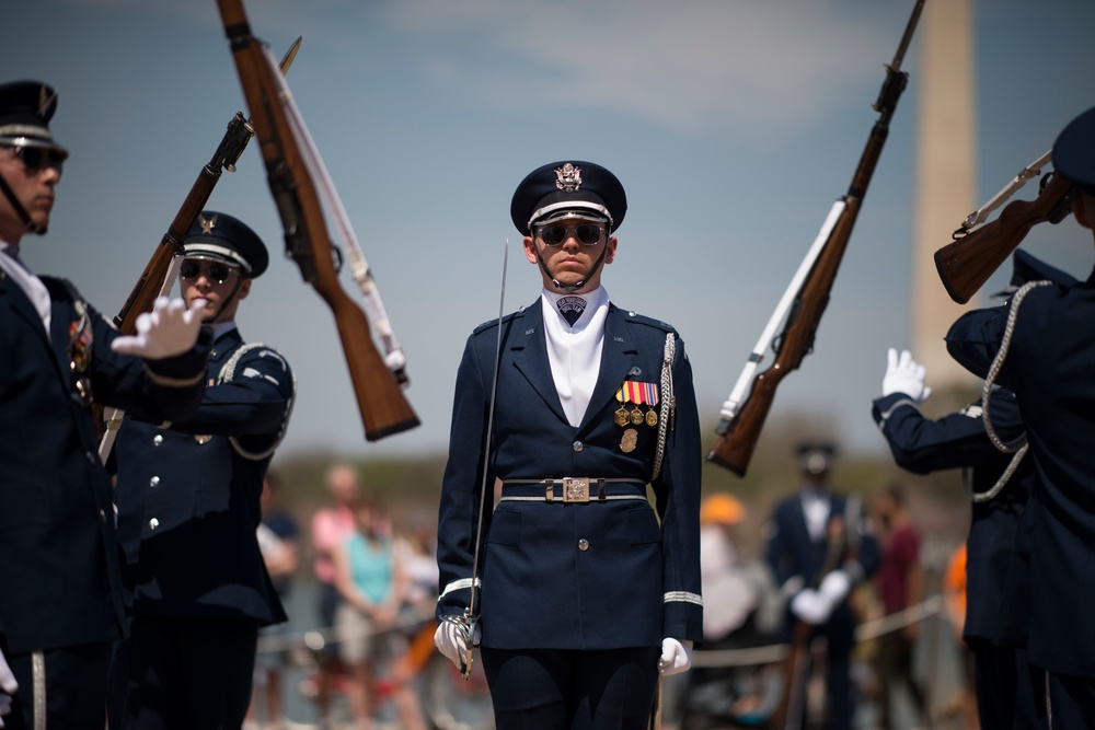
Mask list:
[[[660,647],[481,650],[496,730],[646,730]]]

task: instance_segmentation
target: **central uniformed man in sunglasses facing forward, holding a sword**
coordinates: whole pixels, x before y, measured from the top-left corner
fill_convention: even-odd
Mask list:
[[[626,207],[600,165],[530,173],[510,213],[541,296],[476,328],[457,373],[435,640],[460,664],[473,606],[499,730],[645,728],[659,669],[702,640],[691,367],[670,325],[601,286]]]

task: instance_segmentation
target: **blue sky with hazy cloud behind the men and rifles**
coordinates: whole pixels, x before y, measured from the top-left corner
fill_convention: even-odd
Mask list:
[[[0,68],[8,80],[58,89],[53,129],[72,152],[49,234],[25,240],[25,258],[71,278],[113,316],[228,120],[246,111],[220,16],[214,0],[12,4]],[[1095,68],[1095,2],[973,4],[983,201],[1095,103],[1095,83],[1081,73]],[[280,223],[252,144],[209,207],[247,221],[274,254],[239,322],[245,338],[277,347],[296,370],[283,454],[445,449],[463,341],[497,316],[507,237],[506,309],[539,292],[509,221],[510,196],[529,171],[563,159],[597,161],[627,189],[606,287],[621,306],[677,326],[701,416],[713,425],[848,188],[876,118],[883,65],[911,8],[896,0],[247,2],[255,34],[276,56],[303,36],[288,81],[406,350],[407,397],[423,420],[365,441],[333,318],[280,257]],[[783,382],[773,412],[825,414],[856,451],[885,450],[869,403],[886,348],[909,345],[919,47],[914,39],[903,67],[909,88],[815,352]],[[1091,237],[1071,221],[1040,228],[1026,247],[1086,277]],[[940,245],[949,235],[940,231]],[[706,447],[714,434],[705,434]]]

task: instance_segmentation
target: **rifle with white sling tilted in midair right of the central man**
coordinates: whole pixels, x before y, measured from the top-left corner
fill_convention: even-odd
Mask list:
[[[745,476],[749,467],[764,419],[775,398],[776,386],[787,373],[798,368],[803,358],[814,348],[818,323],[829,303],[829,292],[852,235],[855,218],[889,135],[890,117],[894,116],[897,102],[909,80],[909,74],[900,70],[901,61],[912,40],[923,5],[924,0],[917,0],[894,61],[886,67],[886,80],[878,93],[878,101],[874,104],[878,119],[871,129],[848,193],[829,210],[821,231],[792,278],[791,286],[764,327],[734,391],[723,405],[722,420],[715,429],[718,439],[707,452],[707,461],[724,466],[738,476]],[[786,324],[783,332],[773,338],[776,327],[784,320]],[[757,375],[757,369],[769,347],[775,351],[775,362]]]

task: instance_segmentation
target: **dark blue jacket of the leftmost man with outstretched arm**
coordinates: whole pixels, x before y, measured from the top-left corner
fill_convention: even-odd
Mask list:
[[[117,332],[71,286],[42,277],[50,332],[0,271],[0,634],[13,652],[122,636],[111,482],[77,390],[152,420],[194,413],[208,348],[145,361],[117,355]],[[84,360],[87,358],[87,360]],[[85,361],[81,373],[71,363]],[[149,373],[171,379],[157,385]],[[180,386],[189,381],[192,384]]]

